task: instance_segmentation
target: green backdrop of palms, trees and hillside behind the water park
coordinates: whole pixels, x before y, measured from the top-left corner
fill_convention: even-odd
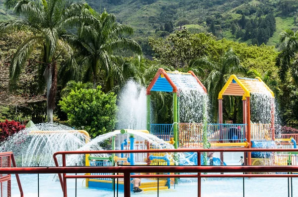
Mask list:
[[[1,118],[42,122],[49,117],[45,108],[50,102],[52,109],[58,106],[54,120],[69,119],[96,136],[114,129],[115,95],[124,84],[135,80],[147,87],[162,67],[195,72],[208,89],[211,122],[218,121],[217,96],[231,74],[262,78],[275,93],[282,124],[298,120],[297,1],[103,0],[101,6],[93,1],[6,1],[5,12],[14,7],[21,17],[0,24],[8,33],[0,37],[2,98],[16,101],[4,103],[0,92]],[[31,102],[35,97],[42,99]],[[97,102],[97,97],[102,99]],[[241,98],[226,100],[224,120],[242,122]],[[172,123],[171,103],[171,94],[152,93],[153,122]],[[98,107],[106,114],[93,114]]]

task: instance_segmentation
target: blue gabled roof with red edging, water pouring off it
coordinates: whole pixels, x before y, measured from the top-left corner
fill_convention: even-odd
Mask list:
[[[150,95],[150,91],[176,93],[179,89],[202,90],[207,93],[204,85],[192,71],[188,73],[169,72],[159,68],[147,88],[147,95]]]

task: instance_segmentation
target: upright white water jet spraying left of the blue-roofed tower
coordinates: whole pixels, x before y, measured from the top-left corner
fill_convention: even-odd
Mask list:
[[[118,129],[146,129],[146,89],[130,80],[120,93]]]

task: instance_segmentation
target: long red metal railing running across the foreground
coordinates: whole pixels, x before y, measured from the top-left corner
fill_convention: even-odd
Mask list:
[[[155,150],[98,150],[98,151],[62,151],[54,153],[54,161],[57,167],[48,168],[20,168],[17,173],[59,173],[61,187],[64,197],[67,197],[67,179],[73,178],[123,178],[124,196],[130,197],[130,179],[131,178],[198,178],[198,197],[201,197],[201,178],[211,177],[298,177],[298,174],[201,174],[201,173],[226,173],[226,172],[296,172],[298,166],[201,166],[201,152],[268,152],[269,149],[155,149]],[[270,152],[295,152],[297,149],[270,149]],[[140,153],[140,152],[197,152],[198,166],[117,166],[117,167],[66,167],[66,155],[69,154],[101,154],[101,153]],[[62,155],[62,165],[59,167],[57,155]],[[0,169],[1,171],[1,169]],[[194,174],[162,174],[162,175],[131,175],[131,173],[197,173]],[[61,175],[61,173],[63,175]],[[123,175],[67,175],[67,173],[123,173]]]

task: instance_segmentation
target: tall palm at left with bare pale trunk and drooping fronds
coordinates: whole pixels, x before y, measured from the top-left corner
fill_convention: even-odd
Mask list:
[[[67,2],[64,0],[7,0],[8,8],[13,7],[14,13],[21,15],[20,19],[0,23],[0,32],[9,33],[21,30],[33,34],[26,39],[14,53],[10,64],[10,79],[18,79],[21,69],[30,54],[38,46],[42,48],[42,60],[37,61],[42,66],[47,88],[47,121],[53,122],[53,109],[57,93],[57,60],[64,58],[65,65],[72,65],[76,72],[74,53],[70,45],[64,41],[65,27],[77,21],[77,13],[84,3]]]

